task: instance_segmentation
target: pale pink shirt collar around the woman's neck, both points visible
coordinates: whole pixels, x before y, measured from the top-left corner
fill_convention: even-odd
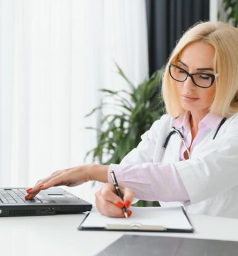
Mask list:
[[[179,117],[172,121],[172,126],[176,127],[177,129],[184,127],[187,130],[190,130],[190,111],[185,111]],[[198,129],[202,127],[208,127],[210,129],[215,130],[223,117],[217,116],[215,114],[208,113],[205,117],[199,122]]]

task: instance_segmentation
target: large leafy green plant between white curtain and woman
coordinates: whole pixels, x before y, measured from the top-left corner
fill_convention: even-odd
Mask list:
[[[101,89],[104,93],[101,105],[87,114],[91,116],[95,111],[101,111],[100,128],[86,127],[96,130],[98,143],[85,157],[92,154],[93,161],[106,165],[120,163],[129,151],[137,147],[140,136],[164,114],[164,103],[159,90],[163,69],[156,71],[138,87],[127,79],[119,66],[117,69],[129,85],[130,91]],[[110,102],[107,101],[108,98]],[[116,112],[105,115],[103,109],[106,107],[113,107]],[[151,202],[140,201],[137,205],[148,206]]]

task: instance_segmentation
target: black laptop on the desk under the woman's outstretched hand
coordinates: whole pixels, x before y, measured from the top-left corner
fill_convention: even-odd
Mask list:
[[[26,200],[27,188],[0,188],[0,217],[56,215],[90,211],[91,203],[60,187],[41,190],[33,200]]]

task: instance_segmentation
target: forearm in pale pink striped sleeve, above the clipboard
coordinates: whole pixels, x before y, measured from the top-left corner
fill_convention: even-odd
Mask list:
[[[111,164],[119,184],[134,190],[135,197],[151,201],[189,201],[189,195],[172,164]],[[111,179],[109,179],[111,182]]]

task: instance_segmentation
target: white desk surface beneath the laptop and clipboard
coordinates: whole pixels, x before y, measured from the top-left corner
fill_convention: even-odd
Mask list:
[[[195,233],[78,231],[84,214],[0,218],[0,252],[6,256],[95,255],[122,234],[238,241],[238,219],[189,215]]]

